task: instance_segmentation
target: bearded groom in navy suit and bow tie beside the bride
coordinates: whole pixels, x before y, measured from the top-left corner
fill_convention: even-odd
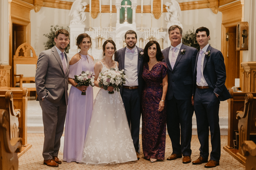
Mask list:
[[[117,50],[115,61],[119,63],[119,69],[124,69],[124,73],[127,75],[127,78],[125,78],[126,83],[120,88],[120,93],[124,102],[128,124],[132,126],[132,140],[139,160],[141,95],[144,85],[142,78],[143,57],[141,57],[140,53],[143,49],[136,46],[137,34],[135,31],[127,31],[124,39],[127,46]]]

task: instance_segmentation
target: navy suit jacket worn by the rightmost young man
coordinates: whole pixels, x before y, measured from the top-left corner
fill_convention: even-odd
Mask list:
[[[203,74],[204,79],[208,86],[213,90],[214,93],[218,94],[220,101],[228,100],[231,98],[227,87],[225,86],[226,81],[226,67],[224,63],[224,57],[222,53],[208,46],[206,51],[210,50],[210,56],[204,56]],[[199,51],[196,55],[196,63],[198,60]],[[196,92],[196,66],[194,70],[194,98]]]

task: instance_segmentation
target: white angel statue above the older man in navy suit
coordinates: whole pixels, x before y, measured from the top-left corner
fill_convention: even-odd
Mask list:
[[[171,2],[166,2],[165,5],[167,10],[165,16],[165,21],[167,21],[166,28],[169,29],[172,25],[178,25],[183,28],[179,21],[179,17],[181,16],[180,4],[175,0],[171,0]]]

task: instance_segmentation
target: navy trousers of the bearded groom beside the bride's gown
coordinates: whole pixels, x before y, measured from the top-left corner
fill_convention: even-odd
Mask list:
[[[131,124],[131,135],[135,151],[139,150],[140,135],[140,96],[138,89],[123,88],[122,99],[127,116],[127,121]]]

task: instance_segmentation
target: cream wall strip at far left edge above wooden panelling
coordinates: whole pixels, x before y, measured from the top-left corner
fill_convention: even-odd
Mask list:
[[[0,64],[9,65],[8,1],[0,1]]]

